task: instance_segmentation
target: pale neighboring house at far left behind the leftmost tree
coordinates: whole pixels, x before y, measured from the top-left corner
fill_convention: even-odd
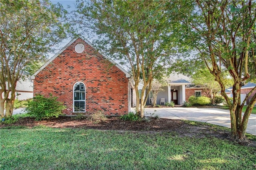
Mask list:
[[[6,82],[6,87],[7,87]],[[30,79],[19,80],[16,85],[15,95],[17,100],[33,98],[33,82]],[[11,93],[9,93],[9,97]]]

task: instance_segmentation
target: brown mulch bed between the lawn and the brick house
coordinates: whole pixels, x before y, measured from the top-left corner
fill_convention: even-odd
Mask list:
[[[143,133],[171,132],[174,136],[189,136],[194,138],[216,137],[222,139],[230,138],[228,128],[208,125],[199,122],[182,121],[178,119],[154,119],[147,121],[123,121],[118,117],[109,117],[102,121],[92,121],[85,117],[64,117],[35,121],[34,118],[20,118],[16,123],[10,125],[0,125],[0,127],[37,127],[46,126],[52,128],[87,128],[98,130],[118,130],[119,132],[132,131]],[[240,143],[243,145],[256,146],[256,141],[250,143]]]

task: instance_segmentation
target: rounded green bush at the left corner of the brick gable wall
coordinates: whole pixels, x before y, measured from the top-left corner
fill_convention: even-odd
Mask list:
[[[57,101],[57,97],[48,98],[43,95],[36,95],[32,101],[28,103],[25,111],[28,115],[35,117],[36,120],[49,119],[52,117],[58,117],[62,114],[62,110],[65,109],[64,105]]]

